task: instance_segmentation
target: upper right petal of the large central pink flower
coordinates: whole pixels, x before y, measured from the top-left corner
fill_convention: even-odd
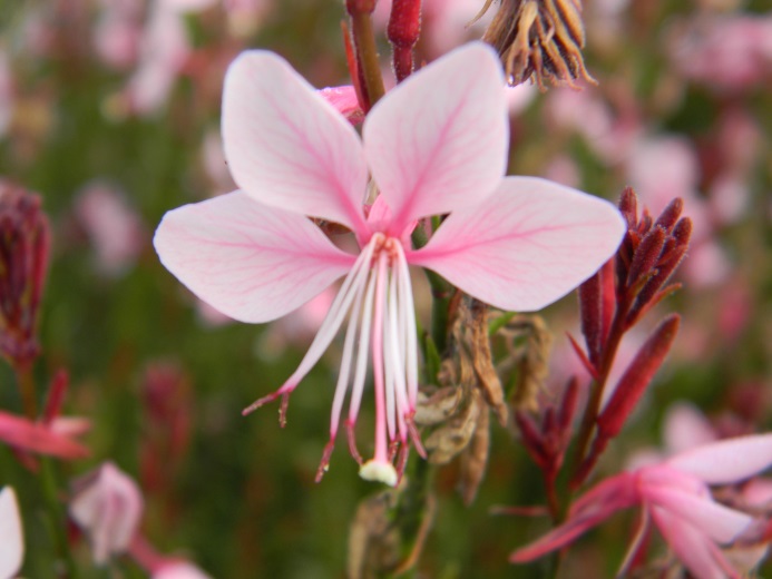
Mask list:
[[[373,107],[364,148],[394,215],[392,233],[492,194],[509,145],[502,86],[496,53],[472,43],[412,75]]]

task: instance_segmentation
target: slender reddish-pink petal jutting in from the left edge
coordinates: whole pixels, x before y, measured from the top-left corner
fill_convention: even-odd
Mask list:
[[[46,424],[31,422],[2,411],[0,411],[0,442],[61,459],[80,459],[88,455],[86,446],[55,432]]]

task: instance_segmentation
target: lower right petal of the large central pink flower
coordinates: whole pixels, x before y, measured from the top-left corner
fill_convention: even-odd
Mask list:
[[[609,203],[535,177],[508,177],[477,208],[451,214],[408,261],[496,307],[539,310],[593,275],[622,239]]]

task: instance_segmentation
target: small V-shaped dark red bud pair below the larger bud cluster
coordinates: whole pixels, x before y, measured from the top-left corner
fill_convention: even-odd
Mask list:
[[[522,434],[522,444],[548,482],[555,480],[563,467],[571,440],[578,398],[578,382],[573,379],[566,385],[560,401],[544,409],[540,422],[526,411],[519,410],[515,413],[515,422]]]

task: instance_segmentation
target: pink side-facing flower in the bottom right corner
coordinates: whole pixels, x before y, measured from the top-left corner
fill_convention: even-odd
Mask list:
[[[749,530],[753,518],[713,500],[709,484],[743,481],[772,465],[772,434],[705,444],[664,462],[624,472],[577,500],[560,527],[518,549],[512,562],[526,562],[573,542],[619,509],[639,504],[642,526],[623,571],[647,534],[649,521],[696,579],[740,578],[719,548]]]

